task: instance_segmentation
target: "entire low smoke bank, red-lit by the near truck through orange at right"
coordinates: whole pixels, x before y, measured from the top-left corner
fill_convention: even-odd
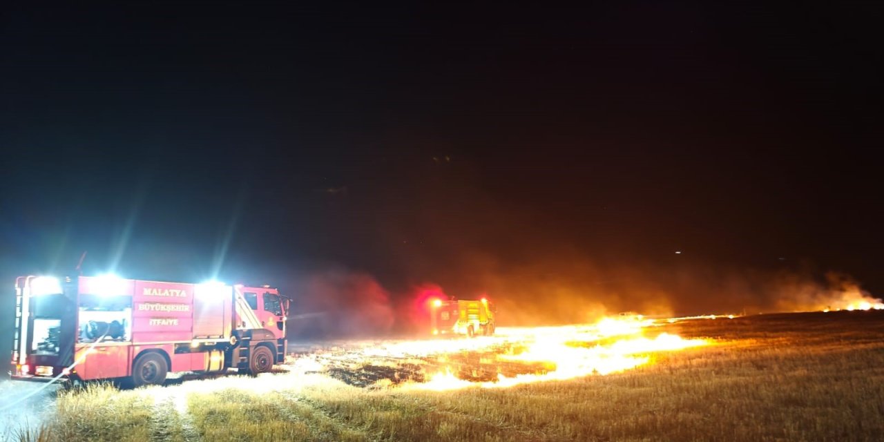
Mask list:
[[[741,270],[697,261],[615,267],[558,255],[512,265],[469,255],[461,265],[437,271],[437,282],[399,292],[366,272],[315,271],[289,289],[295,299],[289,327],[295,339],[421,332],[431,301],[449,298],[487,297],[504,326],[591,323],[623,311],[690,316],[884,308],[842,273]]]

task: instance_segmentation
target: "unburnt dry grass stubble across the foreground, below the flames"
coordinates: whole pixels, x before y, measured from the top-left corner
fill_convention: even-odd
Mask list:
[[[718,344],[636,370],[453,392],[323,375],[62,394],[20,440],[884,440],[884,312],[667,325]],[[165,411],[163,411],[165,410]]]

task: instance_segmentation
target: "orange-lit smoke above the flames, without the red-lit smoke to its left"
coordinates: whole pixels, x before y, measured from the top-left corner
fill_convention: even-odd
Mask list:
[[[496,302],[502,325],[579,324],[622,311],[682,316],[884,307],[842,273],[761,271],[682,256],[604,265],[565,254],[515,264],[471,255],[437,273],[440,293]]]

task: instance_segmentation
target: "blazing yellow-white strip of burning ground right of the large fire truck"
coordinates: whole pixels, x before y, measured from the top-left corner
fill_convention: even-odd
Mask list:
[[[630,370],[648,354],[709,345],[661,330],[666,321],[501,327],[491,337],[333,342],[301,348],[287,370],[359,387],[449,390],[503,387]],[[297,348],[297,345],[295,346]]]

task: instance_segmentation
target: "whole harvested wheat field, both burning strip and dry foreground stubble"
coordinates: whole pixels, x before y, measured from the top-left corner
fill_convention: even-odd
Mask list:
[[[884,440],[882,311],[335,342],[284,369],[59,392],[42,427],[7,437]]]

